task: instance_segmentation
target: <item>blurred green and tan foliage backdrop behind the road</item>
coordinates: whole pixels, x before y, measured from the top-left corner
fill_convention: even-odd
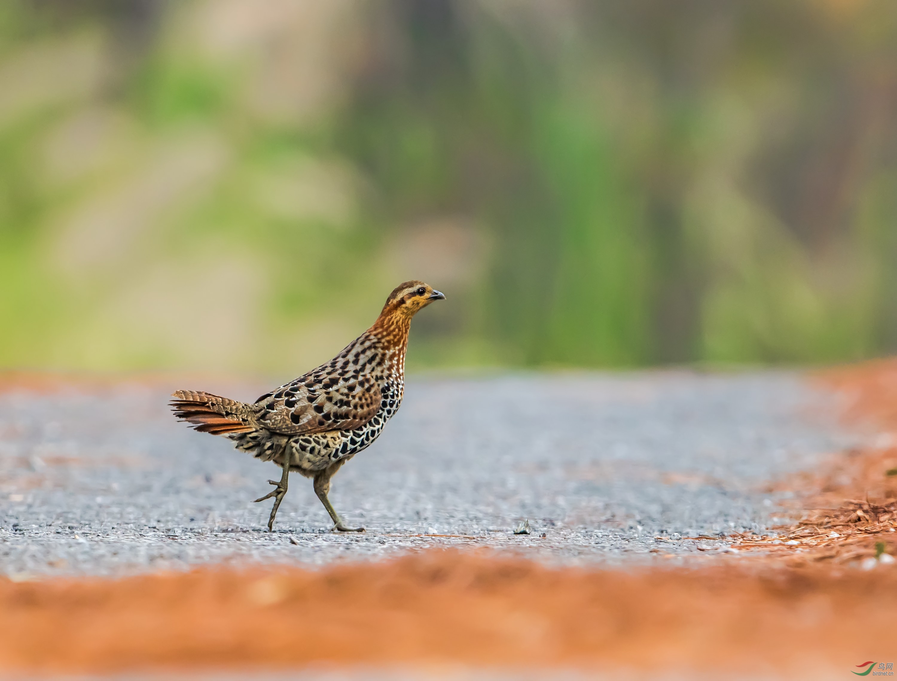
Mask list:
[[[0,363],[290,371],[416,277],[422,365],[897,349],[897,10],[0,11]]]

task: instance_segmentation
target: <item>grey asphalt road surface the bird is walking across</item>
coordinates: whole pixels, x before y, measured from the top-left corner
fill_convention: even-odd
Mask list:
[[[796,373],[418,378],[379,441],[334,478],[337,511],[367,532],[330,532],[295,475],[268,533],[271,501],[252,500],[279,469],[176,422],[175,388],[249,399],[266,386],[0,394],[0,573],[322,564],[433,546],[658,561],[727,546],[682,537],[778,524],[790,493],[765,483],[859,438],[840,429],[835,398]],[[513,534],[523,519],[532,533]]]

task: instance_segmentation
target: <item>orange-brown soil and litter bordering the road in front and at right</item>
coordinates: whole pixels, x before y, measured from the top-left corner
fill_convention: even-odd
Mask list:
[[[897,363],[826,380],[849,392],[854,416],[897,426]],[[857,528],[851,536],[867,553],[882,537],[897,548],[884,534],[892,516],[883,505],[894,454],[854,452],[802,479],[808,498]],[[872,505],[858,514],[863,503]],[[844,555],[837,551],[791,566],[749,554],[623,572],[431,551],[320,571],[0,580],[0,672],[335,664],[848,677],[864,660],[897,661],[897,564],[867,572],[834,560]]]

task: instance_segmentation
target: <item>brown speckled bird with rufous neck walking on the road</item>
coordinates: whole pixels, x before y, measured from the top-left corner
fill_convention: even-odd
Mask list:
[[[405,351],[411,319],[445,295],[421,281],[408,281],[389,294],[373,325],[330,362],[259,397],[252,404],[196,390],[176,390],[170,407],[196,431],[223,435],[238,450],[283,468],[268,531],[287,492],[290,472],[310,477],[315,494],[339,532],[347,527],[327,497],[330,480],[345,462],[370,447],[402,404]]]

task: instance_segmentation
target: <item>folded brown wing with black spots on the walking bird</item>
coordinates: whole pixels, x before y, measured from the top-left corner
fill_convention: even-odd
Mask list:
[[[368,375],[311,372],[259,397],[253,407],[261,426],[284,435],[351,431],[377,414],[380,388]]]

